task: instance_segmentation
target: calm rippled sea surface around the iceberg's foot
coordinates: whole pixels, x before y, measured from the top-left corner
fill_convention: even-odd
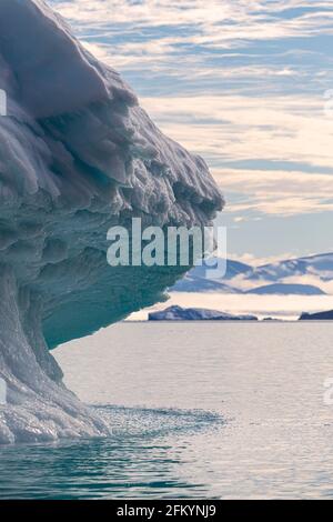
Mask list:
[[[1,448],[0,498],[333,498],[333,323],[128,322],[54,354],[113,436]]]

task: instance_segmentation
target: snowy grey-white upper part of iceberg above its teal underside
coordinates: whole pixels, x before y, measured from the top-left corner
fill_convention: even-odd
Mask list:
[[[17,189],[44,188],[53,197],[67,192],[77,160],[95,169],[94,191],[97,178],[133,188],[129,203],[162,213],[164,221],[176,217],[178,207],[190,220],[194,207],[205,214],[221,209],[204,161],[159,132],[120,76],[83,49],[46,2],[1,1],[0,88],[9,97],[0,138],[10,143],[11,161],[2,165],[3,175],[11,185],[17,181]],[[59,171],[65,171],[64,179]],[[174,204],[176,199],[193,204]]]

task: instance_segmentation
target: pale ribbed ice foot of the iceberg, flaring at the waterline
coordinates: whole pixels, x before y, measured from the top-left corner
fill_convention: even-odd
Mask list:
[[[62,384],[38,308],[27,301],[26,310],[19,307],[22,297],[11,271],[2,272],[0,290],[6,295],[0,303],[0,364],[7,388],[6,404],[0,406],[0,443],[109,434],[110,428]]]

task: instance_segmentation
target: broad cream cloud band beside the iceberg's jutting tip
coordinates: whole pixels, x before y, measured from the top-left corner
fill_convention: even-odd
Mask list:
[[[142,103],[165,132],[210,159],[221,188],[239,195],[229,201],[230,211],[333,210],[333,119],[323,99],[223,96]],[[236,162],[244,167],[232,168]],[[276,168],[281,163],[285,170]]]

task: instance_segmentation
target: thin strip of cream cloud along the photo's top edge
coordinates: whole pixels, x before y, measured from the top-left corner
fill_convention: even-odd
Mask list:
[[[310,0],[51,0],[51,3],[64,17],[81,24],[98,23],[110,29],[111,22],[135,22],[139,28],[194,23],[206,29],[210,39],[216,36],[221,24],[226,28],[221,39],[235,33],[236,38],[253,36],[254,39],[266,38],[266,33],[272,38],[284,32],[303,34],[317,30],[317,20],[327,24],[332,17],[330,1],[316,1],[314,9]],[[291,10],[293,16],[287,16]],[[244,31],[236,32],[235,23]],[[259,27],[261,31],[255,33]]]

